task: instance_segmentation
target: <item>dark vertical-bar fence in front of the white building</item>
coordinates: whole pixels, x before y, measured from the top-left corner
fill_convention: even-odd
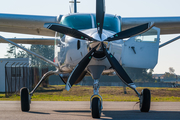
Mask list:
[[[34,84],[33,68],[29,63],[6,63],[5,94],[6,97],[19,92],[22,87],[32,89]]]

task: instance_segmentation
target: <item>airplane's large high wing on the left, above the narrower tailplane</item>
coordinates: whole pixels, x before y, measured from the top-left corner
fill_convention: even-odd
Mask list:
[[[61,17],[1,13],[0,31],[54,37],[55,32],[44,28],[44,23],[58,23]]]

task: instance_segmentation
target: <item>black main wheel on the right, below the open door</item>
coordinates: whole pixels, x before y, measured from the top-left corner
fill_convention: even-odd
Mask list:
[[[149,112],[151,105],[151,92],[149,89],[143,89],[140,97],[140,111]]]

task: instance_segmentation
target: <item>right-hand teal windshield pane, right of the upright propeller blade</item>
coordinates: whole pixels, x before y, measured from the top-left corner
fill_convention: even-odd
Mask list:
[[[95,27],[97,28],[97,25],[96,25],[96,15],[93,14],[93,17],[94,17]],[[119,22],[119,19],[116,16],[112,16],[112,15],[106,14],[105,17],[104,17],[103,29],[111,30],[111,31],[114,31],[116,33],[120,32],[120,22]]]

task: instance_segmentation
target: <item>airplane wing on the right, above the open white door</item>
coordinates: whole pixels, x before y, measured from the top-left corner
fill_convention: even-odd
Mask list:
[[[155,26],[161,29],[161,34],[180,33],[180,17],[137,17],[137,18],[121,18],[121,19],[122,19],[122,30],[140,24],[154,22]]]

